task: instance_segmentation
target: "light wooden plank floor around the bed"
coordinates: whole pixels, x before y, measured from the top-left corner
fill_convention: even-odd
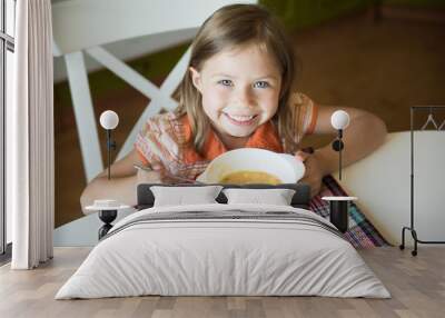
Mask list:
[[[323,297],[132,297],[53,300],[89,248],[56,248],[36,270],[0,268],[0,317],[445,317],[445,248],[418,256],[397,248],[360,251],[393,298]]]

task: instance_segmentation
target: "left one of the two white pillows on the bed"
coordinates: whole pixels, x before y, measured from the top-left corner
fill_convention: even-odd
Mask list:
[[[155,207],[217,203],[221,186],[204,187],[150,187]]]

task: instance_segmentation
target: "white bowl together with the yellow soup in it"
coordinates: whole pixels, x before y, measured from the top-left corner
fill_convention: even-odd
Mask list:
[[[305,175],[304,163],[291,155],[241,148],[215,158],[197,178],[205,183],[295,183]]]

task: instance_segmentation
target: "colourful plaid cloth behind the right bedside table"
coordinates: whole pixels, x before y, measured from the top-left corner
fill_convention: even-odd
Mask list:
[[[317,215],[329,218],[329,202],[322,200],[325,196],[348,196],[348,193],[332,176],[323,179],[322,191],[310,200],[309,208]],[[354,202],[349,202],[348,213],[349,229],[345,238],[355,248],[390,246]]]

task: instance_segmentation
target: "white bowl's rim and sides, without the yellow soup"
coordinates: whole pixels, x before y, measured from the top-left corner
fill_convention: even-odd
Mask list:
[[[296,183],[305,175],[305,165],[291,155],[241,148],[215,158],[197,180],[219,183],[227,175],[240,170],[263,171],[278,178],[281,183]]]

